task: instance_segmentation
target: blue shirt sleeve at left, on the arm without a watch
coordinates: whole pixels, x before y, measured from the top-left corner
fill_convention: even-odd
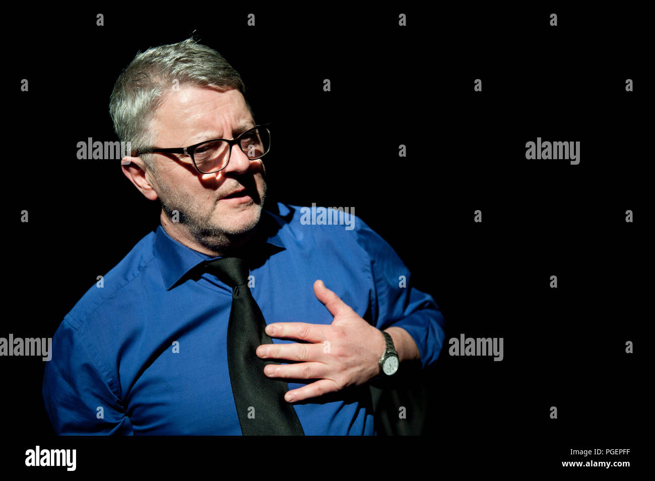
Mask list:
[[[55,433],[134,435],[115,380],[92,344],[84,342],[84,326],[74,325],[67,315],[54,333],[52,359],[43,375],[43,401]]]

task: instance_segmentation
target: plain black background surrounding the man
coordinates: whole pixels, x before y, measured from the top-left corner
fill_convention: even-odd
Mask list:
[[[77,142],[115,140],[108,105],[121,69],[138,51],[195,31],[241,74],[255,120],[274,122],[267,203],[354,207],[432,294],[446,340],[462,332],[504,338],[502,362],[451,357],[446,342],[434,372],[412,378],[413,397],[406,389],[383,395],[379,429],[430,436],[419,443],[429,446],[421,460],[447,459],[456,469],[493,460],[496,472],[514,463],[573,470],[561,461],[586,461],[569,451],[588,448],[631,448],[611,460],[633,461],[652,288],[652,51],[645,13],[629,8],[178,4],[8,16],[0,336],[51,337],[96,276],[159,224],[159,203],[143,198],[119,161],[77,160]],[[20,91],[22,79],[29,92]],[[308,148],[307,130],[320,147]],[[525,143],[536,137],[580,141],[580,164],[526,160]],[[24,209],[28,223],[20,222]],[[77,448],[77,471],[105,466],[113,457],[94,464],[95,446],[120,452],[122,444],[52,437],[43,366],[0,358],[3,433],[19,440],[0,462],[20,467],[24,450],[40,444]],[[390,423],[394,402],[418,406],[409,431]],[[167,449],[206,449],[171,442]],[[397,453],[394,441],[372,443],[377,457]],[[138,450],[153,446],[162,442],[141,441]]]

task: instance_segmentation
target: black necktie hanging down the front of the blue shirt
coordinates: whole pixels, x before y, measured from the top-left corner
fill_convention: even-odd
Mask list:
[[[266,322],[248,287],[248,266],[242,258],[223,257],[206,263],[207,270],[232,287],[227,325],[227,367],[244,436],[304,436],[293,406],[284,400],[288,383],[269,378],[264,366],[280,364],[257,357],[261,344],[273,344]]]

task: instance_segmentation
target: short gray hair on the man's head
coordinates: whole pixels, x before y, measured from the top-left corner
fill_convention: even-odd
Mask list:
[[[193,37],[138,52],[116,80],[109,100],[109,115],[119,140],[130,142],[133,152],[152,149],[155,132],[151,122],[155,112],[164,94],[183,84],[246,92],[240,75],[227,60]],[[252,114],[248,101],[246,105]],[[157,171],[152,154],[141,154],[141,158],[147,168]]]

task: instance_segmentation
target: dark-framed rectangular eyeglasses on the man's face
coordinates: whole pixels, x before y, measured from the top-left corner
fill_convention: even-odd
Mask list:
[[[153,147],[149,151],[136,152],[136,156],[141,154],[183,154],[191,157],[191,161],[196,170],[200,173],[214,173],[227,167],[230,161],[232,146],[238,145],[244,154],[250,160],[257,160],[269,153],[271,150],[271,131],[268,126],[271,124],[261,124],[246,130],[243,134],[238,135],[234,140],[212,139],[189,145],[189,147],[179,147],[175,149],[159,149]]]

